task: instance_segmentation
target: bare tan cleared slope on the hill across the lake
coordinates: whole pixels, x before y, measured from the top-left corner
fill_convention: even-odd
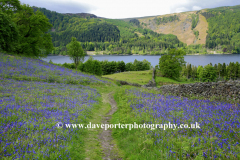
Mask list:
[[[199,21],[195,27],[195,30],[199,31],[199,36],[194,35],[194,31],[191,29],[192,14],[199,16]],[[157,19],[169,18],[174,15],[176,15],[179,20],[167,21],[161,24],[157,23]],[[139,18],[138,20],[144,28],[151,29],[157,33],[176,35],[180,41],[186,43],[187,45],[206,43],[208,23],[206,18],[197,11]]]

